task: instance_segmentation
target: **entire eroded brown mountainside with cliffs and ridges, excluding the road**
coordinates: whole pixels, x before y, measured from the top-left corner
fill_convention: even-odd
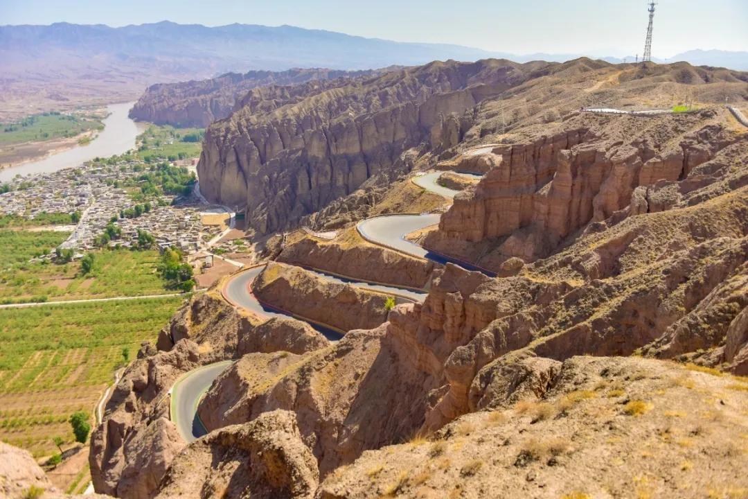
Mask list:
[[[748,102],[748,74],[589,59],[249,89],[198,171],[263,241],[239,291],[266,308],[227,301],[239,271],[143,345],[93,432],[96,492],[741,497],[748,129],[726,94]],[[674,95],[699,107],[586,110]],[[361,231],[402,213],[438,221],[403,236],[420,253]],[[170,389],[218,361],[186,441]]]

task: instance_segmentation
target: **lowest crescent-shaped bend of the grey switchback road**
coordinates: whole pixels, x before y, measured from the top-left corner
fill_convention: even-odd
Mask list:
[[[206,435],[205,426],[197,417],[197,404],[215,379],[231,364],[233,361],[216,362],[191,370],[171,388],[171,419],[187,442]]]

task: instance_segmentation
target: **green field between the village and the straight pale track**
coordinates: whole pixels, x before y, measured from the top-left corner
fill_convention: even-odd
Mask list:
[[[174,293],[156,273],[159,252],[93,251],[93,269],[83,274],[81,264],[29,263],[39,252],[55,248],[67,233],[0,230],[0,302],[62,301]],[[8,265],[10,263],[10,265]]]

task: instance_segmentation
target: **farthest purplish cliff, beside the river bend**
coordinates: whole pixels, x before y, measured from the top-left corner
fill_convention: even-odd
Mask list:
[[[135,120],[159,125],[205,128],[227,117],[253,88],[298,85],[313,80],[371,76],[375,71],[294,69],[227,73],[217,78],[151,85],[130,110]],[[243,104],[242,104],[243,105]]]

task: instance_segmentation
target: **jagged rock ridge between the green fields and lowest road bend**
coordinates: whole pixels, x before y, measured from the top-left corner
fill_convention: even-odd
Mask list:
[[[294,319],[258,325],[212,293],[196,296],[159,334],[159,349],[146,344],[114,388],[103,421],[91,434],[96,492],[152,497],[186,445],[169,420],[168,396],[184,373],[245,352],[304,353],[327,345],[322,334]]]

